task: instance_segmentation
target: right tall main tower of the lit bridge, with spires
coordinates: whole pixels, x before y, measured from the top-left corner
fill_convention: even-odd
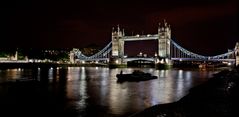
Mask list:
[[[163,26],[158,27],[158,55],[160,58],[170,59],[170,39],[171,29],[170,25],[164,20]]]

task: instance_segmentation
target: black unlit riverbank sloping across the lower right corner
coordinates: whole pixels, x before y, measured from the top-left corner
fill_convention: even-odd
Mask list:
[[[238,91],[239,67],[215,74],[177,102],[155,105],[131,117],[237,117]]]

